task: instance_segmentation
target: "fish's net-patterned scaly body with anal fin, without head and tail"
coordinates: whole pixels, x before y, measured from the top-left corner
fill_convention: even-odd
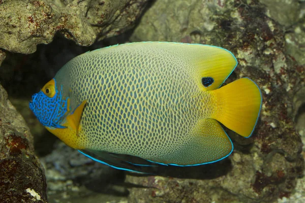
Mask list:
[[[225,132],[217,121],[205,119],[216,103],[193,77],[196,67],[188,59],[192,53],[182,45],[172,51],[162,44],[95,50],[72,59],[57,73],[72,110],[87,99],[81,146],[176,164],[228,154],[230,149],[223,150],[231,147]]]

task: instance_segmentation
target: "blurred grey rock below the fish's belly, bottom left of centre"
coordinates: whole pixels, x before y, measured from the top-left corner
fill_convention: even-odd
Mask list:
[[[89,159],[59,141],[41,158],[50,202],[121,202],[127,200],[124,172]]]

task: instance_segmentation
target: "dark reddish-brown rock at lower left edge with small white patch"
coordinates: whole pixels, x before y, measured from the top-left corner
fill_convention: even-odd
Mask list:
[[[0,85],[0,202],[47,202],[33,137]]]

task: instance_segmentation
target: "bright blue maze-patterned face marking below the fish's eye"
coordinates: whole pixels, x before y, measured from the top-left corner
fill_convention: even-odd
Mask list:
[[[53,79],[55,81],[55,79]],[[66,128],[59,125],[68,111],[68,98],[62,97],[62,89],[57,90],[55,81],[55,94],[53,97],[47,96],[42,90],[33,94],[29,102],[29,108],[33,111],[38,120],[46,127]]]

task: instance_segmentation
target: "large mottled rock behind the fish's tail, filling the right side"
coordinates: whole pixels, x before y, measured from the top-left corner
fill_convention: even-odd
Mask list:
[[[298,21],[292,11],[299,11],[299,2],[288,1],[290,16],[278,11],[277,16],[285,18],[277,19],[279,23],[264,15],[263,4],[244,2],[160,0],[136,27],[132,41],[200,43],[232,51],[239,64],[227,83],[251,78],[262,90],[263,105],[250,139],[227,130],[235,150],[224,161],[162,167],[159,172],[165,177],[128,175],[128,183],[145,187],[130,188],[131,202],[272,202],[294,191],[304,159],[293,123],[293,112],[298,111],[293,97],[305,85],[305,69],[286,54],[281,23]]]

